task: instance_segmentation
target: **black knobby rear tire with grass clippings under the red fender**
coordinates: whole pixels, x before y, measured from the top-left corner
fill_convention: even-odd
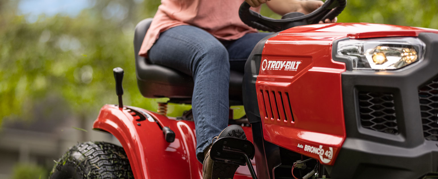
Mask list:
[[[70,148],[53,166],[50,179],[134,179],[122,147],[84,142]]]

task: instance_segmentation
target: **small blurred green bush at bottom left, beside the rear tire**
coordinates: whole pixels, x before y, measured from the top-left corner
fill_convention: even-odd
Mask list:
[[[12,171],[12,179],[46,179],[47,171],[32,164],[18,164]]]

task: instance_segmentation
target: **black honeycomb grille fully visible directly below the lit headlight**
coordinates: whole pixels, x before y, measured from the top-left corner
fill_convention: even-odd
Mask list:
[[[398,133],[392,93],[361,91],[358,98],[362,127],[384,133]]]

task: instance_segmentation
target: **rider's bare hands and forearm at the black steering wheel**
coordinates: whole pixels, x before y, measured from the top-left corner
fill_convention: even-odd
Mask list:
[[[324,2],[321,0],[245,0],[251,7],[259,7],[261,4],[267,3],[272,11],[278,14],[286,14],[289,12],[300,12],[303,14],[309,14],[314,10],[321,7]],[[322,23],[334,23],[338,21],[338,18],[325,19],[324,21],[319,21]]]

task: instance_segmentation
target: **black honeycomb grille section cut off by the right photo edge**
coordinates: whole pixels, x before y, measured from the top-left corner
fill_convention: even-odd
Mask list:
[[[438,78],[420,87],[418,98],[424,138],[438,140]]]

